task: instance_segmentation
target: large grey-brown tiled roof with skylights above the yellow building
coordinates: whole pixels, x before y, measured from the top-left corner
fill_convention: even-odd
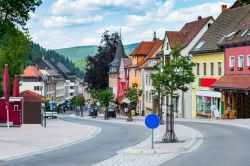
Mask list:
[[[208,29],[208,31],[196,43],[191,53],[199,54],[203,52],[222,51],[222,48],[218,47],[218,45],[226,44],[223,43],[226,41],[224,40],[226,39],[226,36],[228,36],[233,31],[244,29],[250,26],[249,12],[250,5],[230,8],[223,11],[215,20],[213,25]],[[198,48],[197,46],[201,42],[203,42],[203,44],[201,44],[201,47]]]

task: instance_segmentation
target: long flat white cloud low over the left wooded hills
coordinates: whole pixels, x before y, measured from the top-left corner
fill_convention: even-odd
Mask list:
[[[63,26],[74,26],[74,25],[84,25],[100,22],[103,20],[103,16],[96,15],[94,17],[67,17],[67,16],[52,16],[50,18],[44,19],[43,25],[45,27],[63,27]]]

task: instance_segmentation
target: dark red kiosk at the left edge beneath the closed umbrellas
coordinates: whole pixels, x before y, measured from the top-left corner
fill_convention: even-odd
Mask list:
[[[21,126],[23,122],[23,98],[10,97],[9,101],[9,122],[10,126]],[[7,124],[7,111],[5,109],[5,99],[0,99],[0,126]]]

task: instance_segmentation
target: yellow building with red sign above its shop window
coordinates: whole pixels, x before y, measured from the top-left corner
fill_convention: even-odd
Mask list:
[[[221,93],[210,86],[224,75],[224,53],[197,54],[193,56],[195,81],[192,83],[192,118],[211,115],[211,107],[221,110]]]

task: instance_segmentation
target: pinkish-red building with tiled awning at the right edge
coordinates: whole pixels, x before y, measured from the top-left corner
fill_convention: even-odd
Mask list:
[[[224,116],[250,118],[250,5],[240,11],[218,44],[225,50],[225,75],[212,88],[223,94]]]

